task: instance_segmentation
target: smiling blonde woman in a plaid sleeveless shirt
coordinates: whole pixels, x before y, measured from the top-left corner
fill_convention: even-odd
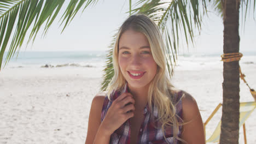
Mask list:
[[[114,77],[108,93],[92,100],[86,144],[205,143],[196,101],[171,85],[165,56],[149,17],[132,15],[123,23],[113,49]]]

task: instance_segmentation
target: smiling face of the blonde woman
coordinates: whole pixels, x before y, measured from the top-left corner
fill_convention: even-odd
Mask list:
[[[149,86],[156,75],[157,64],[144,34],[125,31],[119,39],[118,63],[121,73],[131,88]]]

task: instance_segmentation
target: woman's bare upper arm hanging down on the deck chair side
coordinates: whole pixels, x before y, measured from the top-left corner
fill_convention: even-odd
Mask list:
[[[195,99],[188,93],[182,98],[183,121],[182,139],[189,144],[205,143],[202,118]]]

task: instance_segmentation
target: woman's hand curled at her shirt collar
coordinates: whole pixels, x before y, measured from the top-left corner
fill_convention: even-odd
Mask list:
[[[109,107],[101,127],[111,135],[127,119],[134,116],[135,100],[130,93],[123,93]]]

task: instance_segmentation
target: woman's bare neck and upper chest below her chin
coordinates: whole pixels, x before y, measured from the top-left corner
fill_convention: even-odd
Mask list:
[[[136,88],[129,86],[129,91],[133,96],[133,99],[135,99],[135,110],[136,111],[142,111],[144,110],[144,107],[148,103],[148,89],[149,86],[142,87],[142,88]]]

